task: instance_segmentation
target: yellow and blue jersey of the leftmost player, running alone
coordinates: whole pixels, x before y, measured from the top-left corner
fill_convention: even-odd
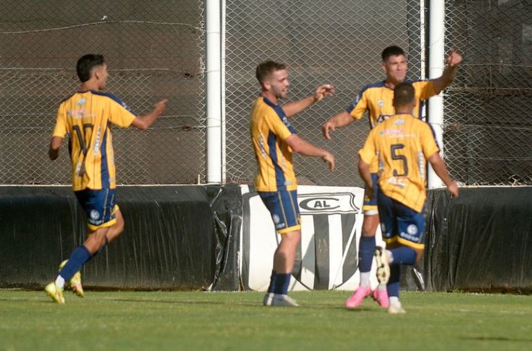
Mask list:
[[[116,188],[110,125],[129,127],[136,115],[119,98],[82,91],[64,99],[57,110],[53,136],[69,135],[74,191]]]

